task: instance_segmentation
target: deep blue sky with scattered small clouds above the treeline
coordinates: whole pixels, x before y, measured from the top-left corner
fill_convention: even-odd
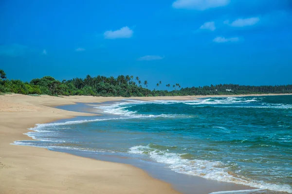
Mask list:
[[[292,84],[292,1],[0,0],[0,69],[149,88]]]

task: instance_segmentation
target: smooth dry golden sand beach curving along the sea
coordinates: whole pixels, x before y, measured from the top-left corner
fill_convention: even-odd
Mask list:
[[[244,96],[244,95],[238,95]],[[264,95],[249,95],[264,96]],[[197,96],[206,97],[206,96]],[[142,100],[191,100],[195,97],[133,97]],[[54,106],[120,100],[124,97],[0,96],[1,194],[176,194],[171,185],[128,164],[103,162],[45,148],[11,145],[29,140],[23,133],[37,123],[90,116]]]

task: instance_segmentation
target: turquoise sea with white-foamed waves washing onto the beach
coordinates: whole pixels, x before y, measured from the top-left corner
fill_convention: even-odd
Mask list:
[[[292,96],[123,100],[40,124],[15,144],[116,153],[178,173],[292,193]]]

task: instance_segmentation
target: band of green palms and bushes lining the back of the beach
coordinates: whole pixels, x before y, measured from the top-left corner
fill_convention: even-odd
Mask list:
[[[137,82],[136,82],[137,81]],[[146,88],[142,87],[142,84]],[[156,96],[193,96],[193,95],[240,95],[240,94],[287,94],[292,93],[292,85],[276,86],[245,86],[237,84],[219,84],[211,86],[181,88],[179,83],[173,84],[172,91],[149,90],[148,81],[141,81],[139,77],[120,75],[117,78],[87,75],[85,79],[74,78],[72,80],[58,81],[50,76],[41,79],[33,79],[30,82],[20,80],[8,80],[6,74],[0,69],[0,94],[17,93],[31,96],[102,96],[102,97],[156,97]],[[161,86],[159,81],[157,89]],[[166,84],[168,89],[170,83]]]

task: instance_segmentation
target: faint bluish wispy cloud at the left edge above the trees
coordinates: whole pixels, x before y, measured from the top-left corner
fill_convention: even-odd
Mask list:
[[[29,48],[24,45],[11,44],[11,45],[0,45],[0,55],[17,57],[29,52]]]

